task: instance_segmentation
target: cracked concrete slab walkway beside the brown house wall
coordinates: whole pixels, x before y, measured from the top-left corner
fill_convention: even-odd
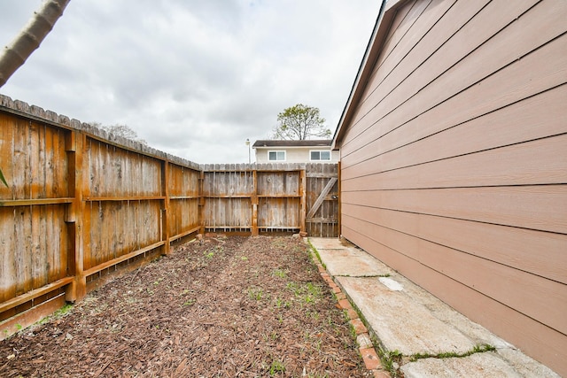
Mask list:
[[[385,351],[403,355],[399,367],[407,378],[559,377],[352,243],[324,238],[309,242],[361,313],[370,335]],[[484,351],[484,345],[496,349]],[[463,354],[470,355],[426,357]],[[421,358],[412,361],[411,356]]]

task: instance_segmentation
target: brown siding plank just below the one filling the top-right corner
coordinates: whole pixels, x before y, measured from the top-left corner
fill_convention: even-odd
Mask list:
[[[567,56],[563,54],[566,49],[565,38],[555,40],[412,120],[406,121],[400,117],[380,120],[375,127],[364,134],[366,142],[357,141],[360,144],[358,148],[365,148],[378,138],[384,138],[382,148],[390,150],[395,146],[403,146],[432,133],[500,110],[548,89],[554,89],[567,82],[567,72],[564,69],[567,65]],[[519,77],[522,78],[521,81],[517,80]],[[550,100],[563,101],[564,96],[564,91],[557,92]],[[530,125],[523,121],[517,126],[518,130],[521,130]],[[392,147],[389,147],[390,145]],[[376,150],[376,152],[378,154],[384,150]],[[341,154],[341,159],[347,159],[349,156],[345,150],[341,150]],[[354,162],[350,161],[349,165]]]

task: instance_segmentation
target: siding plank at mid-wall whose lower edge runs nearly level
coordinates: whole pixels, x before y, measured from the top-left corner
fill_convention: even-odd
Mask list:
[[[346,179],[345,191],[369,189],[431,189],[567,182],[567,134],[495,150],[394,169],[374,174],[382,165],[357,166],[361,177]],[[442,148],[442,147],[441,147]],[[411,153],[408,151],[408,154]],[[385,159],[385,158],[384,158]],[[521,161],[522,164],[516,164]],[[345,174],[347,175],[347,174]]]

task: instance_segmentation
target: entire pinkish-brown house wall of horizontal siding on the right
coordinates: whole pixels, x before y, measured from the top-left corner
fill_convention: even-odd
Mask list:
[[[567,2],[386,6],[342,234],[567,375]]]

